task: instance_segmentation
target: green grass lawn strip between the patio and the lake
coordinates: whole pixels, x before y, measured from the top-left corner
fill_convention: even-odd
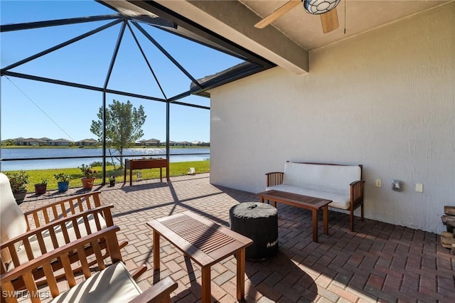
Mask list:
[[[169,163],[169,171],[171,171],[170,176],[183,176],[188,173],[190,167],[196,169],[196,174],[207,173],[210,171],[210,161],[190,161],[190,162],[175,162]],[[95,179],[96,184],[102,184],[102,167],[93,166],[92,169],[95,169],[97,174],[97,179]],[[4,171],[5,172],[5,171]],[[8,171],[10,172],[10,171]],[[11,171],[16,172],[16,171]],[[133,181],[137,180],[137,172],[142,174],[141,179],[157,179],[159,178],[159,169],[141,169],[133,171]],[[64,173],[69,174],[70,187],[82,187],[82,172],[80,169],[36,169],[33,171],[26,171],[30,175],[29,182],[27,184],[27,191],[34,192],[35,184],[41,183],[42,179],[48,179],[48,191],[57,189],[57,181],[54,179],[54,174]],[[114,166],[106,166],[106,176],[115,176],[115,181],[123,182],[123,169],[114,169]],[[127,180],[129,181],[129,171],[127,171]],[[166,169],[163,169],[163,176],[166,176]],[[106,184],[109,184],[109,180],[106,179]]]

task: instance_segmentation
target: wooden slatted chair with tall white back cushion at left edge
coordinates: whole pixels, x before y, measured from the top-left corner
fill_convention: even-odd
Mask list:
[[[22,213],[8,177],[0,173],[0,272],[8,272],[45,252],[114,225],[113,206],[101,206],[99,195],[95,191],[71,196]],[[126,241],[120,247],[125,245]],[[43,277],[42,272],[34,274]]]

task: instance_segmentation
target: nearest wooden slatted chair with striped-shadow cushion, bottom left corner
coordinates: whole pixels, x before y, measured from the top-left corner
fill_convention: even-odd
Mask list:
[[[124,263],[117,241],[117,226],[111,226],[63,245],[36,259],[20,265],[14,270],[0,276],[1,299],[4,302],[18,302],[18,294],[28,297],[32,302],[41,302],[43,298],[52,297],[52,302],[171,302],[171,292],[177,288],[177,283],[170,277],[141,292],[134,281],[146,270],[145,266],[130,275]],[[98,243],[107,243],[101,248]],[[93,250],[87,251],[87,245]],[[73,257],[76,252],[77,257]],[[102,255],[109,255],[111,265],[107,266],[107,259]],[[93,268],[88,265],[89,260],[95,259],[98,270],[92,275]],[[108,258],[109,259],[109,258]],[[63,265],[63,276],[67,285],[58,283],[55,276],[58,269],[53,267],[53,260]],[[75,276],[73,267],[77,263],[82,265],[82,273]],[[42,268],[48,287],[38,289],[33,271]],[[61,271],[61,269],[60,269]],[[27,292],[18,292],[14,280],[23,280]]]

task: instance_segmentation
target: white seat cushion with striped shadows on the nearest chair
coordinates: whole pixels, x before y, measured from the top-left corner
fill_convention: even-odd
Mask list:
[[[141,289],[129,275],[127,267],[122,262],[117,262],[59,294],[50,302],[127,303],[139,294]]]

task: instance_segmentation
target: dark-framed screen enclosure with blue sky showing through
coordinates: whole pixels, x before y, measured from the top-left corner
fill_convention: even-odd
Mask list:
[[[127,1],[115,8],[109,1],[14,2],[1,3],[2,143],[51,136],[54,145],[85,142],[94,136],[90,124],[100,110],[105,130],[113,100],[130,101],[144,107],[141,141],[153,138],[163,146],[154,156],[170,159],[184,154],[171,154],[171,146],[198,139],[192,135],[210,144],[211,88],[274,66],[152,1],[152,11],[136,8],[134,14]],[[101,154],[11,156],[0,149],[0,170],[29,161],[97,158],[104,184],[112,158],[105,134],[97,139]]]

